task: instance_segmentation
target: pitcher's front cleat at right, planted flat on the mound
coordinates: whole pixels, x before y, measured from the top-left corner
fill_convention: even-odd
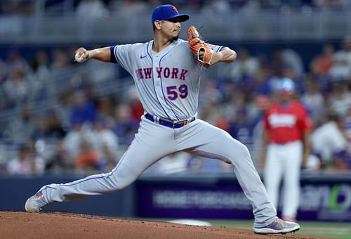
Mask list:
[[[257,234],[285,234],[294,233],[300,229],[296,222],[284,221],[278,217],[268,226],[253,227],[253,232]]]

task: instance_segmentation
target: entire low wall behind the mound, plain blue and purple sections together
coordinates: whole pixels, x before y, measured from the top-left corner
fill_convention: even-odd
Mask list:
[[[42,185],[75,179],[79,176],[1,177],[0,210],[22,211],[27,197]],[[44,211],[111,217],[253,219],[251,205],[232,174],[145,175],[121,192],[57,203]],[[303,175],[298,220],[351,221],[351,175]]]

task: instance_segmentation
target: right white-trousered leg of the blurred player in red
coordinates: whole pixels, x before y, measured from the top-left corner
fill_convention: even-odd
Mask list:
[[[300,199],[300,167],[303,156],[303,145],[301,142],[290,143],[289,155],[285,158],[284,174],[284,205],[282,215],[284,217],[296,218]]]

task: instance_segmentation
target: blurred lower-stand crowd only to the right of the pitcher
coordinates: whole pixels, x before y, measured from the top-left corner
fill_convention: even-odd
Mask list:
[[[282,77],[293,79],[296,99],[305,106],[313,124],[312,154],[306,171],[351,169],[351,38],[336,49],[324,44],[307,67],[297,51],[277,48],[271,58],[237,49],[232,65],[218,65],[217,79],[203,82],[201,117],[225,129],[251,149],[262,135],[265,109],[277,101]]]

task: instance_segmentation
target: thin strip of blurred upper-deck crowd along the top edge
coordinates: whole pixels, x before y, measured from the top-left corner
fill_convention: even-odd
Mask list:
[[[174,4],[178,8],[196,11],[211,9],[218,13],[224,13],[230,9],[240,9],[241,11],[282,7],[340,9],[351,6],[348,0],[2,0],[0,1],[0,14],[29,15],[34,13],[36,9],[44,7],[46,11],[50,11],[52,8],[55,12],[75,11],[77,15],[85,17],[105,17],[110,14],[138,14],[138,12],[161,4]]]

